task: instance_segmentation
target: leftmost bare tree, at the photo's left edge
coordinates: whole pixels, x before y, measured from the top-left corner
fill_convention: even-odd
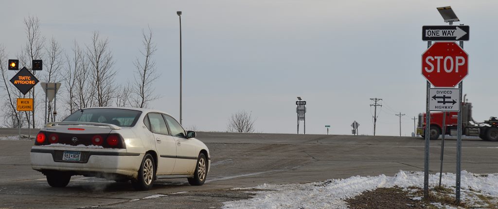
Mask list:
[[[8,100],[4,103],[4,106],[6,106],[7,108],[3,108],[3,119],[7,126],[19,127],[19,125],[21,124],[21,116],[17,114],[13,101],[13,95],[10,93],[9,89],[10,82],[8,82],[7,69],[3,65],[3,63],[7,63],[7,56],[8,55],[5,53],[5,47],[3,45],[0,45],[0,70],[2,76],[1,89],[5,89],[6,97]]]

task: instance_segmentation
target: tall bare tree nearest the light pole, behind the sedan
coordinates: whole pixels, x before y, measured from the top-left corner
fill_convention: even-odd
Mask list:
[[[150,27],[148,34],[145,34],[142,30],[142,38],[144,48],[140,50],[140,53],[143,60],[140,61],[140,59],[136,58],[133,62],[136,76],[130,91],[133,94],[131,106],[134,107],[147,107],[148,102],[159,98],[153,95],[152,82],[159,78],[159,75],[155,68],[155,61],[152,59],[152,55],[156,51],[156,44],[152,42],[152,30]]]

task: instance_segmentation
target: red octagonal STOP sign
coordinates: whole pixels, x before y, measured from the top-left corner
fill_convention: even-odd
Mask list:
[[[469,55],[455,42],[436,42],[422,54],[422,75],[435,87],[455,87],[469,74]]]

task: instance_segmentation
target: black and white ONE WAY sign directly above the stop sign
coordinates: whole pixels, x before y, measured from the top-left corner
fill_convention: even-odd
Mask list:
[[[422,41],[468,41],[469,25],[422,26]]]

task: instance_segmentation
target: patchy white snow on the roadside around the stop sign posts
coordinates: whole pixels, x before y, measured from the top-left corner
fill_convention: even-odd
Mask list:
[[[445,187],[455,186],[456,175],[443,173],[442,184]],[[263,190],[248,200],[230,201],[224,203],[224,209],[343,209],[348,208],[344,199],[357,196],[365,191],[376,188],[411,186],[423,188],[423,172],[399,171],[393,177],[379,175],[376,177],[353,176],[348,179],[334,179],[325,182],[288,185],[260,185],[253,188]],[[429,175],[430,187],[439,183],[439,173]],[[461,200],[470,205],[478,198],[473,191],[498,198],[498,175],[475,175],[467,171],[461,172]],[[472,189],[472,191],[471,191]]]

